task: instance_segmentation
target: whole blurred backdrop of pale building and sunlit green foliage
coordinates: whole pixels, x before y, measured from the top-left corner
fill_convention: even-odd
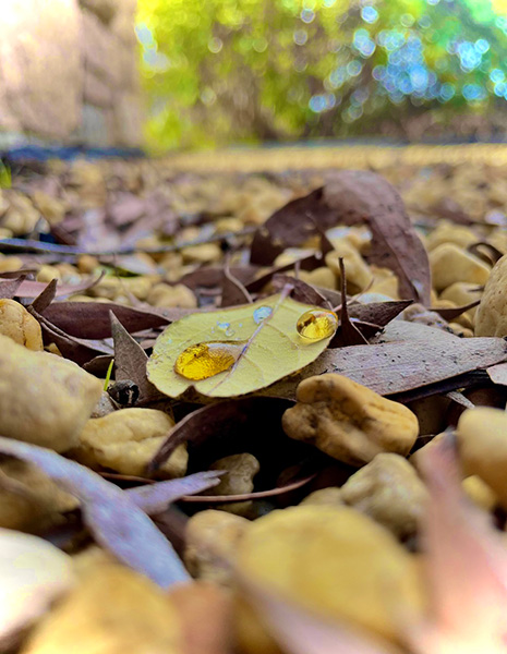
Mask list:
[[[507,0],[2,0],[0,147],[505,141]]]

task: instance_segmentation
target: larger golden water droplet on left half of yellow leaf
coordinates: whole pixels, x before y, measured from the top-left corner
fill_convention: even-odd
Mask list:
[[[228,371],[238,360],[243,343],[208,341],[190,346],[174,362],[174,372],[186,379],[207,379]]]

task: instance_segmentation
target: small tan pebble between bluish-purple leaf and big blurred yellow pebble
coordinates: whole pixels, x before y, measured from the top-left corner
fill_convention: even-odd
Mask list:
[[[192,516],[185,529],[184,562],[189,572],[221,585],[233,583],[238,546],[251,522],[215,509]]]

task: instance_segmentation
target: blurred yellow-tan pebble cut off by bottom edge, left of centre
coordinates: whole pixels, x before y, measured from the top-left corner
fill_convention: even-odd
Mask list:
[[[176,605],[119,564],[90,568],[31,632],[22,654],[184,654]]]

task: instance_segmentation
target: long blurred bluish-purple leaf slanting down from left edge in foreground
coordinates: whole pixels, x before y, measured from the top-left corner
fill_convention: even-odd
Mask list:
[[[98,474],[43,447],[0,437],[0,451],[40,468],[82,505],[97,542],[162,588],[189,574],[169,542],[129,494]]]

